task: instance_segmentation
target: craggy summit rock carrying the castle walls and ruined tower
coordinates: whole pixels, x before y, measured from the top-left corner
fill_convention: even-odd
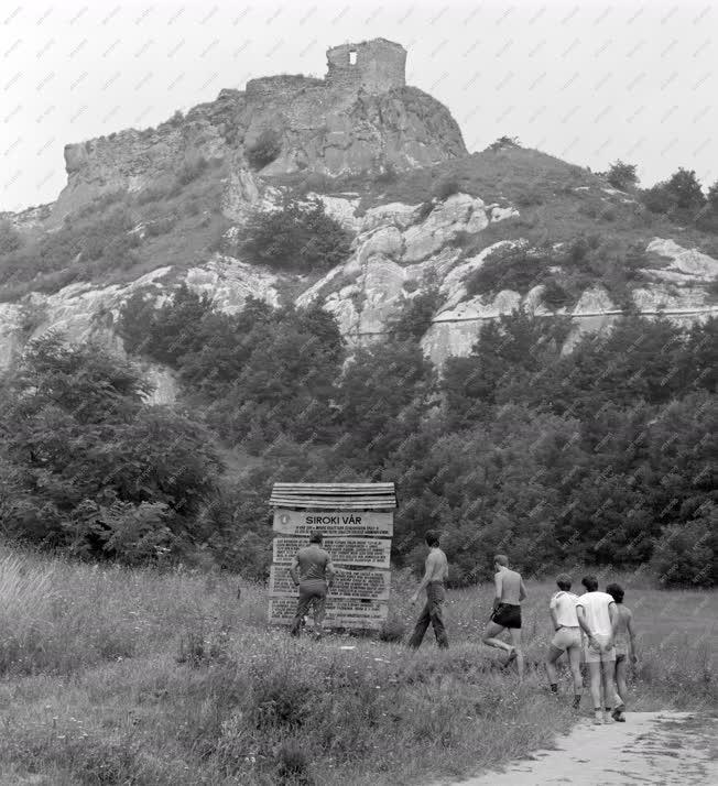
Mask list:
[[[351,53],[357,55],[351,62]],[[105,192],[140,190],[197,161],[230,172],[228,215],[252,199],[250,168],[263,175],[329,175],[424,166],[466,154],[449,111],[404,79],[406,52],[378,39],[329,50],[326,79],[281,75],[222,90],[216,101],[176,113],[156,129],[129,129],[65,148],[67,186],[55,220]],[[251,151],[265,132],[278,145],[258,164]]]

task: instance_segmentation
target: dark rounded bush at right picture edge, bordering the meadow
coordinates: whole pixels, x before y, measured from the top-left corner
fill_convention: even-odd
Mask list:
[[[651,568],[663,587],[705,587],[718,583],[718,507],[710,503],[688,524],[663,530],[655,542]]]

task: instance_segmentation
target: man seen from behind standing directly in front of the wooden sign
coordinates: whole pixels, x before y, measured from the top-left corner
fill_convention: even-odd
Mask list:
[[[300,635],[302,621],[311,605],[314,607],[314,633],[317,637],[322,635],[327,591],[331,587],[335,576],[331,557],[328,552],[322,548],[323,542],[324,535],[319,531],[313,532],[309,545],[296,553],[290,568],[294,586],[300,588],[300,600],[291,627],[293,636]]]

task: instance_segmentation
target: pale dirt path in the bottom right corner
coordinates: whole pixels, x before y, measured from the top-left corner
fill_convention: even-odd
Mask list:
[[[625,723],[581,723],[531,760],[460,786],[711,786],[718,784],[718,719],[631,712]],[[458,786],[458,785],[457,785]]]

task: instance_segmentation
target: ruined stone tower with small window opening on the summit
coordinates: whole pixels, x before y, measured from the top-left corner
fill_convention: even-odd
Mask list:
[[[327,66],[326,81],[341,90],[381,94],[406,85],[406,50],[387,39],[333,46]]]

